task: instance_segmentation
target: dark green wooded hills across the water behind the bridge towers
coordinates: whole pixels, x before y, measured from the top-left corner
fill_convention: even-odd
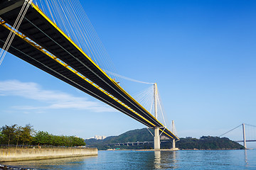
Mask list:
[[[153,130],[150,129],[153,133]],[[105,140],[89,139],[85,140],[87,147],[97,147],[100,150],[115,149],[117,146],[108,146],[107,144],[124,143],[124,142],[150,142],[154,138],[146,128],[139,130],[130,130],[124,132],[119,136],[111,136],[105,138]],[[146,145],[134,145],[134,146],[118,146],[119,149],[153,149],[153,144]],[[170,142],[162,142],[162,149],[169,149],[172,147]],[[200,139],[193,137],[181,138],[176,142],[176,147],[179,149],[244,149],[244,147],[237,142],[229,140],[227,137],[210,137],[203,136]]]

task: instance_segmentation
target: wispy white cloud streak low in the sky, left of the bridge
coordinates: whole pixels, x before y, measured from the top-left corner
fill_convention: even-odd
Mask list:
[[[114,108],[105,106],[97,101],[88,101],[87,98],[75,97],[62,91],[44,90],[39,84],[21,82],[18,80],[0,81],[0,96],[19,96],[40,101],[46,106],[14,106],[20,110],[42,111],[45,109],[79,109],[94,112],[113,112]]]

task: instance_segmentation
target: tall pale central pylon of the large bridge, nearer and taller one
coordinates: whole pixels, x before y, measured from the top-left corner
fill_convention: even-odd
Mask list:
[[[154,111],[157,120],[157,85],[154,84]],[[160,149],[159,127],[154,128],[154,149]]]

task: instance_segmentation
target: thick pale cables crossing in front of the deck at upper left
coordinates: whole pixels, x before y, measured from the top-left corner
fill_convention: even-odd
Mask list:
[[[14,36],[16,35],[16,32],[18,31],[19,26],[21,26],[21,22],[23,21],[23,18],[26,15],[26,11],[28,11],[28,7],[30,6],[31,3],[32,3],[32,0],[24,1],[23,6],[21,7],[21,11],[18,13],[16,21],[14,23],[14,26],[13,26],[12,30],[10,31],[8,38],[6,39],[6,42],[4,43],[4,46],[1,49],[0,65],[3,62],[6,52],[9,50],[11,42],[14,40]]]

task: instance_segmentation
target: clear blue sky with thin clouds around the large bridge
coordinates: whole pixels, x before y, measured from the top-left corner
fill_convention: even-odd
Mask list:
[[[117,72],[158,84],[180,137],[256,124],[256,1],[81,3]],[[1,126],[84,138],[144,128],[18,57],[7,54],[0,75]],[[149,87],[122,86],[131,94]]]

